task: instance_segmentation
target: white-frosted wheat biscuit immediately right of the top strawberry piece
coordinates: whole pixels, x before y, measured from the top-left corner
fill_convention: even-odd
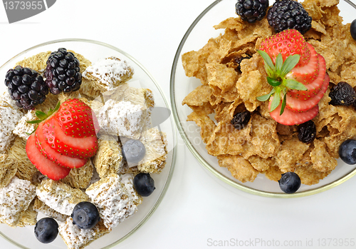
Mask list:
[[[110,99],[100,109],[98,122],[105,133],[138,139],[146,119],[141,105]]]

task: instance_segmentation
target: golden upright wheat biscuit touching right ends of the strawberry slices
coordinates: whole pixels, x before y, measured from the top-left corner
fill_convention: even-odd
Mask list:
[[[93,158],[93,163],[100,178],[105,178],[110,173],[120,171],[124,161],[117,137],[100,135],[98,139],[98,151]]]

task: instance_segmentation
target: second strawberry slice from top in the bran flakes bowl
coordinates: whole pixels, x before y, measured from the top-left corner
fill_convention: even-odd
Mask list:
[[[287,78],[294,78],[296,81],[299,81],[304,85],[313,82],[315,78],[318,78],[319,71],[323,71],[323,68],[320,66],[320,57],[323,58],[323,56],[319,56],[313,46],[308,44],[308,42],[305,42],[305,44],[310,51],[308,63],[305,64],[305,66],[295,66],[295,68],[293,68],[286,76]],[[323,65],[323,62],[321,62],[321,65]]]

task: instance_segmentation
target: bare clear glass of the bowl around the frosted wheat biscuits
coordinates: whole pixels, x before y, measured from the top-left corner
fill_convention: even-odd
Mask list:
[[[169,109],[169,103],[164,97],[164,93],[159,87],[158,83],[152,77],[152,75],[146,70],[144,66],[138,61],[136,61],[132,56],[125,53],[120,49],[115,48],[109,44],[105,44],[100,41],[92,41],[85,39],[63,39],[56,41],[48,41],[44,44],[39,44],[33,46],[26,51],[14,56],[14,58],[7,61],[3,66],[0,67],[0,78],[5,78],[6,72],[9,68],[13,68],[15,63],[21,61],[29,56],[33,56],[44,51],[56,51],[58,48],[64,47],[75,51],[78,54],[85,56],[92,62],[98,59],[103,59],[109,56],[116,56],[120,59],[124,59],[129,63],[135,70],[133,78],[128,82],[130,86],[139,88],[150,88],[155,97],[155,108],[162,111],[162,108]],[[0,92],[1,94],[6,91],[6,86],[1,83]],[[166,109],[166,110],[167,110]],[[155,109],[152,111],[155,113]],[[170,113],[170,111],[169,111]],[[157,209],[157,206],[162,201],[164,194],[167,191],[169,182],[172,178],[172,173],[174,171],[174,162],[176,157],[176,128],[174,126],[174,121],[172,116],[167,116],[166,120],[162,120],[162,123],[157,123],[161,131],[167,133],[168,141],[168,156],[167,163],[164,167],[162,173],[151,174],[152,178],[155,180],[155,191],[149,197],[145,197],[142,204],[137,208],[137,212],[132,215],[127,220],[117,225],[110,233],[104,235],[93,243],[90,243],[85,248],[88,249],[98,249],[98,248],[112,248],[118,243],[128,238],[132,233],[135,232],[141,225],[147,221],[148,218]],[[152,122],[154,123],[154,122]],[[38,216],[40,218],[40,216]],[[33,233],[34,226],[28,226],[25,228],[10,228],[8,225],[0,224],[0,235],[9,240],[14,245],[19,246],[19,248],[31,248],[31,249],[46,249],[46,248],[67,248],[66,244],[63,242],[60,235],[51,244],[40,243]]]

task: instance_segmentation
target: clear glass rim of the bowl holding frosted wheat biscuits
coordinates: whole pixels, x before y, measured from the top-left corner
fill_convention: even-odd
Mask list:
[[[140,66],[140,68],[142,68],[143,71],[145,71],[145,73],[147,73],[147,76],[150,77],[150,79],[152,80],[153,83],[155,83],[155,86],[157,87],[157,90],[159,91],[159,93],[161,94],[164,104],[166,105],[167,108],[169,108],[169,103],[167,102],[167,98],[164,96],[164,92],[162,91],[162,88],[160,88],[159,84],[157,83],[157,81],[155,80],[155,78],[153,78],[152,74],[147,71],[147,69],[145,68],[145,66],[143,66],[139,61],[137,61],[135,58],[133,58],[132,56],[130,56],[130,54],[127,54],[125,51],[122,51],[121,49],[117,49],[115,46],[112,46],[110,44],[106,44],[102,41],[95,41],[95,40],[90,40],[90,39],[58,39],[58,40],[53,40],[53,41],[46,41],[42,44],[38,44],[36,46],[32,46],[29,49],[26,49],[25,51],[22,51],[21,53],[17,54],[16,56],[21,56],[22,54],[26,54],[28,51],[31,51],[33,49],[37,49],[41,46],[46,46],[46,45],[50,45],[50,44],[57,44],[60,42],[83,42],[83,43],[88,43],[88,44],[96,44],[96,45],[100,45],[100,46],[106,46],[112,50],[115,50],[117,52],[119,52],[120,54],[123,54],[124,56],[126,56],[127,58],[129,58],[130,60],[134,61],[138,66]],[[9,59],[9,61],[11,61],[12,59],[14,59],[16,56],[14,56],[13,58]],[[9,63],[9,61],[6,61],[6,63]],[[6,65],[6,63],[4,63],[4,65]],[[3,66],[0,66],[0,69],[3,68]],[[169,117],[172,119],[172,117]],[[133,233],[135,233],[135,231],[137,231],[138,228],[140,228],[143,224],[146,223],[146,221],[151,217],[151,215],[153,213],[155,213],[155,210],[157,209],[159,203],[162,202],[165,193],[167,193],[167,189],[169,187],[169,183],[172,180],[172,175],[173,175],[173,171],[174,171],[174,166],[175,166],[175,162],[176,162],[176,156],[177,156],[177,133],[176,133],[176,127],[174,125],[174,121],[171,121],[172,123],[172,136],[173,136],[173,141],[172,141],[172,164],[171,167],[169,169],[169,174],[168,174],[168,178],[167,181],[164,185],[164,188],[162,190],[162,193],[159,195],[155,205],[152,207],[152,209],[150,210],[149,213],[147,213],[147,215],[145,216],[145,218],[143,220],[141,220],[140,223],[138,223],[135,228],[133,228],[129,233],[127,233],[125,236],[123,236],[122,238],[120,238],[119,240],[115,241],[115,243],[112,243],[110,245],[105,246],[104,248],[101,249],[109,249],[109,248],[113,248],[115,245],[118,245],[120,243],[122,243],[122,241],[124,241],[125,239],[129,238],[130,235],[132,235]],[[30,249],[27,248],[24,245],[21,245],[19,243],[17,243],[16,241],[12,240],[11,238],[8,238],[6,235],[4,235],[4,233],[0,232],[0,236],[6,240],[8,240],[10,243],[18,246],[19,248],[23,248],[23,249]]]

